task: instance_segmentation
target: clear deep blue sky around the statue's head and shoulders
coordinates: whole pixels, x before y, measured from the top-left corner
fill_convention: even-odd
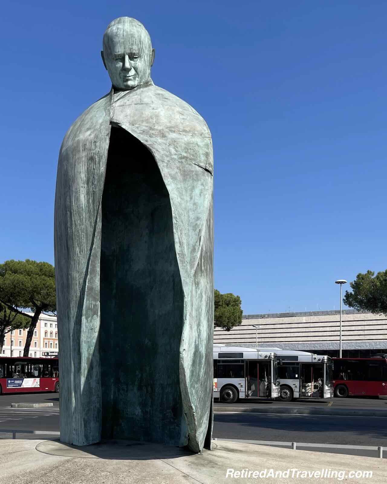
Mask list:
[[[16,0],[1,13],[0,262],[54,262],[60,143],[109,91],[102,35],[126,15],[149,30],[155,84],[212,132],[216,288],[245,314],[337,309],[335,279],[387,269],[385,1]]]

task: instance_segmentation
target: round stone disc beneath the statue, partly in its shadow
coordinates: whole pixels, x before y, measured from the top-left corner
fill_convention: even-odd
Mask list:
[[[212,444],[214,447],[215,445]],[[168,447],[136,440],[102,440],[91,445],[70,445],[59,440],[45,440],[36,446],[43,454],[89,459],[171,459],[194,453],[181,447]]]

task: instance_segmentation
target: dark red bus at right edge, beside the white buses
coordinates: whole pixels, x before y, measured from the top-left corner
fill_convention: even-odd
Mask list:
[[[332,358],[336,397],[387,396],[386,358]]]

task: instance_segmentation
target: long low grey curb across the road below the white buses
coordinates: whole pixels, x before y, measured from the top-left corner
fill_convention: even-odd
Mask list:
[[[331,415],[340,417],[387,417],[387,410],[353,410],[352,408],[257,408],[257,407],[214,407],[214,413],[271,413],[286,415]]]

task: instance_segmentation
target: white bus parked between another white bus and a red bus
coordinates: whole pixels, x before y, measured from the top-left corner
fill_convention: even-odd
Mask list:
[[[292,349],[263,349],[274,351],[281,359],[278,369],[280,400],[333,397],[333,360],[329,356]]]

